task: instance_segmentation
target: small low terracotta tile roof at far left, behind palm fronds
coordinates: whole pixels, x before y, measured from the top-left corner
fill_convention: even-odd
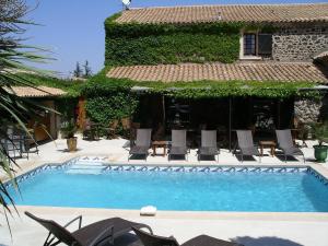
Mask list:
[[[66,92],[60,89],[48,86],[37,86],[37,89],[28,86],[12,86],[11,89],[14,94],[21,97],[52,97],[66,94]],[[10,92],[9,89],[7,89],[7,91]]]

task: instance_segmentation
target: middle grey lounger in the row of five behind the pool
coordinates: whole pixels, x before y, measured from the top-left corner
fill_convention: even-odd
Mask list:
[[[172,155],[187,155],[187,131],[186,130],[172,130],[172,142],[168,150],[168,161]],[[187,157],[188,159],[188,157]]]

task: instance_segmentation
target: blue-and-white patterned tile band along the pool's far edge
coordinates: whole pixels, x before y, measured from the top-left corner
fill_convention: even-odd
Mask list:
[[[108,163],[107,157],[75,157],[65,163],[59,164],[43,164],[26,173],[23,173],[16,177],[17,184],[21,181],[34,177],[35,175],[47,169],[69,169],[79,162],[87,162],[92,168],[94,163],[101,164],[103,168],[99,173],[75,173],[75,174],[94,174],[101,175],[107,172],[183,172],[183,173],[308,173],[316,177],[325,186],[328,186],[328,178],[326,178],[320,172],[313,168],[311,165],[194,165],[194,164],[169,164],[156,165],[156,164],[124,164],[124,163]],[[74,174],[74,173],[73,173]],[[5,187],[11,187],[13,184],[11,180],[4,181]]]

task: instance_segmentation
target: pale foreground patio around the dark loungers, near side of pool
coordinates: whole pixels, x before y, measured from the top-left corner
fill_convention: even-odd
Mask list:
[[[0,221],[1,245],[36,246],[44,243],[46,230],[25,216],[25,210],[60,224],[80,214],[83,214],[83,225],[106,218],[121,216],[150,225],[156,235],[174,235],[179,243],[200,234],[236,241],[245,246],[327,246],[328,242],[327,214],[159,212],[154,218],[144,218],[139,215],[139,211],[21,207],[21,218],[15,215],[14,220],[11,219],[13,241],[10,239],[8,229],[3,226],[5,222]],[[124,245],[121,243],[117,239],[115,245]]]

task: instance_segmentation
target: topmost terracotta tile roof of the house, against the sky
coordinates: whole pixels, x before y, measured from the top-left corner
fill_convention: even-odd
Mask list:
[[[313,22],[328,21],[328,3],[191,5],[130,9],[117,23]]]

